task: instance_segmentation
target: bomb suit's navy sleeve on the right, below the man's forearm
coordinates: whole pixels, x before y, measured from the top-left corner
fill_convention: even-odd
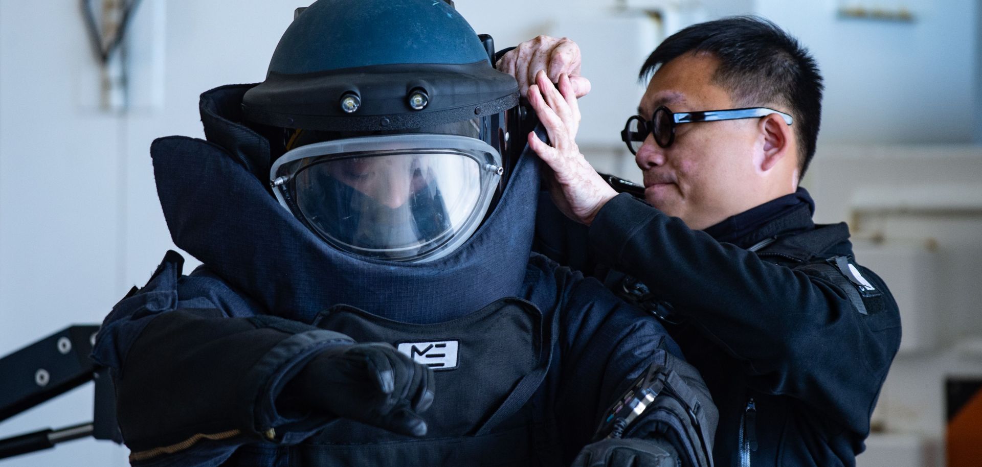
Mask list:
[[[548,260],[539,257],[539,261]],[[626,432],[625,437],[671,441],[688,459],[686,465],[708,465],[718,421],[716,406],[672,337],[653,316],[628,305],[596,280],[567,268],[560,268],[558,274],[562,388],[557,414],[564,436],[578,445],[591,441],[607,410],[655,365],[674,390],[662,390],[655,405],[665,410],[644,412],[631,425],[641,428]]]

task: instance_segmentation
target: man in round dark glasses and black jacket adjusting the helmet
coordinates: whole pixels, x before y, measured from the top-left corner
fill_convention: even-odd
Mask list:
[[[659,45],[622,132],[643,200],[579,153],[576,94],[589,86],[568,76],[578,62],[568,41],[539,38],[498,63],[526,81],[548,130],[548,143],[529,144],[555,173],[552,199],[588,226],[540,212],[539,249],[668,323],[719,407],[716,465],[854,465],[900,318],[853,259],[846,225],[815,225],[798,186],[821,115],[810,54],[755,18],[689,26]]]

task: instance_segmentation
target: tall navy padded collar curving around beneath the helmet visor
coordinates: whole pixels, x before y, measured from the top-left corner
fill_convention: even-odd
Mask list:
[[[520,292],[539,189],[534,154],[521,155],[500,202],[453,253],[427,263],[356,257],[324,243],[267,190],[265,139],[221,114],[247,88],[202,94],[208,142],[172,136],[151,146],[161,207],[180,248],[270,313],[307,322],[344,303],[436,323]]]

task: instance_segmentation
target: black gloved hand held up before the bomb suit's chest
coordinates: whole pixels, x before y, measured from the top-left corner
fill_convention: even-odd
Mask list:
[[[295,403],[328,415],[421,437],[419,413],[433,403],[433,370],[388,343],[358,343],[320,353],[288,384]]]

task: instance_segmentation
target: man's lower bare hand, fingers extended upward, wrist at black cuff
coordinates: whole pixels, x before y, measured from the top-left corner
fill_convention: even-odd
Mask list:
[[[600,178],[576,146],[579,106],[570,78],[561,75],[559,89],[544,72],[535,78],[537,82],[528,88],[528,102],[549,133],[552,145],[532,131],[528,146],[552,169],[553,174],[546,181],[556,206],[573,221],[590,225],[617,191]]]

